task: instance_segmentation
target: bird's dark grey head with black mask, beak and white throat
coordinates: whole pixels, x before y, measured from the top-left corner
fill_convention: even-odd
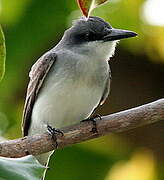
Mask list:
[[[103,19],[90,16],[74,21],[71,28],[64,34],[64,40],[69,47],[76,48],[81,53],[96,53],[111,57],[116,43],[120,39],[134,37],[137,34],[128,30],[112,28]]]

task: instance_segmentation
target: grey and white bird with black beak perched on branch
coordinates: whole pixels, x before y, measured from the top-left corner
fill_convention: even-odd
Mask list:
[[[63,128],[92,116],[108,97],[109,60],[120,39],[137,33],[113,28],[97,16],[80,17],[60,42],[32,66],[23,111],[23,135]],[[36,156],[48,164],[53,151]]]

